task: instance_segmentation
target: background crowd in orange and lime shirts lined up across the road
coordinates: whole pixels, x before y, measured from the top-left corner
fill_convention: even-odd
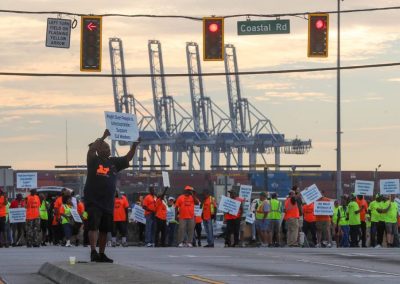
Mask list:
[[[146,247],[202,246],[202,230],[206,233],[204,247],[214,247],[213,224],[217,202],[205,189],[200,194],[186,186],[177,198],[167,196],[168,188],[159,194],[153,186],[137,202],[129,204],[125,194],[114,197],[113,227],[107,234],[108,245],[128,246],[128,224],[136,223],[136,239]],[[199,197],[201,196],[201,198]],[[368,202],[364,196],[343,195],[334,201],[329,215],[315,215],[314,203],[304,204],[299,190],[294,187],[285,200],[276,193],[261,192],[252,200],[249,212],[254,213],[250,224],[243,214],[244,200],[235,190],[229,197],[241,202],[237,215],[224,214],[225,247],[258,245],[262,247],[398,247],[400,218],[395,196],[377,194]],[[323,196],[319,201],[330,201]],[[196,216],[195,206],[201,215]],[[129,210],[141,206],[146,224],[129,219]],[[9,208],[26,208],[26,222],[10,223]],[[71,210],[76,210],[82,222],[74,221]],[[23,198],[17,194],[12,201],[0,193],[0,247],[39,247],[46,245],[89,245],[88,212],[80,196],[63,189],[59,196],[47,198],[31,190]],[[247,220],[247,222],[246,222]],[[245,227],[251,228],[246,241]],[[117,237],[119,236],[119,241]],[[72,243],[71,243],[72,242]]]

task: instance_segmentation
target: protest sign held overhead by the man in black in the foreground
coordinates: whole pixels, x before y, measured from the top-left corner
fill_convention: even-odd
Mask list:
[[[139,138],[136,116],[129,113],[105,111],[106,127],[111,140],[134,142]]]

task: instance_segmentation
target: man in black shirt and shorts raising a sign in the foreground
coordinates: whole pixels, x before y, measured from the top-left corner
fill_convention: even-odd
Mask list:
[[[101,138],[89,145],[84,193],[85,207],[88,213],[90,260],[112,263],[113,260],[108,258],[104,251],[107,232],[111,232],[113,227],[117,173],[129,167],[129,161],[133,159],[140,139],[132,144],[125,156],[110,157],[110,146],[104,142],[108,136],[110,136],[110,132],[106,129]],[[99,241],[99,253],[96,251],[97,240]]]

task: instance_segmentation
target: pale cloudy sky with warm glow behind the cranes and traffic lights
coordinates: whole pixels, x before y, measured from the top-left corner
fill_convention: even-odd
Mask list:
[[[0,10],[103,14],[186,15],[285,14],[335,11],[337,1],[315,0],[2,0]],[[342,10],[400,6],[394,0],[345,0]],[[80,73],[80,18],[69,49],[45,46],[47,18],[57,14],[0,13],[0,72]],[[400,10],[341,15],[342,66],[399,62]],[[266,18],[252,17],[251,20]],[[236,47],[240,71],[336,66],[337,17],[330,15],[329,57],[307,57],[307,20],[290,20],[290,34],[238,36],[237,21],[225,21],[225,43]],[[185,44],[202,45],[201,21],[160,18],[103,19],[103,68],[110,74],[108,39],[121,38],[127,73],[149,73],[147,42],[162,44],[166,73],[187,72]],[[203,72],[224,72],[223,62],[202,62]],[[336,71],[241,76],[242,96],[256,105],[287,139],[311,139],[306,155],[282,155],[283,164],[320,164],[336,169]],[[168,94],[190,109],[188,79],[167,78]],[[127,79],[129,92],[152,106],[149,78]],[[228,113],[224,77],[204,79],[206,95]],[[341,72],[342,169],[398,171],[400,157],[399,67]],[[0,165],[14,169],[54,169],[84,164],[87,144],[105,128],[113,111],[111,78],[0,76]],[[68,135],[66,135],[68,133]],[[67,137],[66,137],[67,136]],[[68,142],[68,151],[66,150]],[[121,153],[127,148],[121,148]],[[274,156],[267,156],[269,163]]]

